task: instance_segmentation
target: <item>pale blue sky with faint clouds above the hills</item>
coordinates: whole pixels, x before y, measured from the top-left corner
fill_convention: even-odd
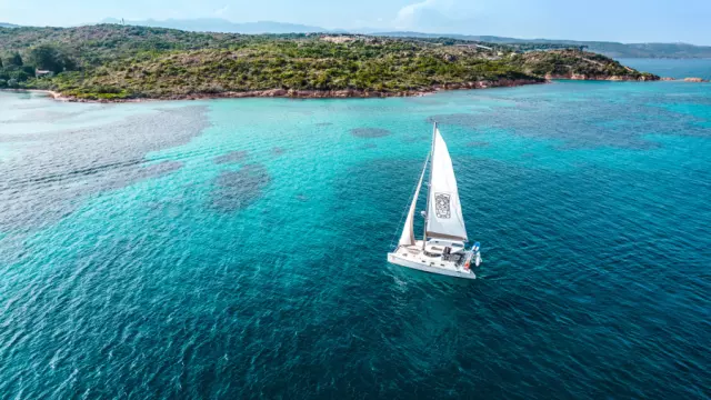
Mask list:
[[[711,46],[711,0],[0,0],[0,22],[66,27],[104,18]]]

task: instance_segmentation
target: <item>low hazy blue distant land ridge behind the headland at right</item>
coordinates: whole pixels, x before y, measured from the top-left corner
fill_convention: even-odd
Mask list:
[[[519,44],[533,49],[538,44],[547,46],[587,46],[589,51],[611,58],[711,58],[711,47],[688,43],[618,43],[604,41],[553,40],[553,39],[515,39],[495,36],[472,36],[457,33],[420,33],[420,32],[377,32],[374,36],[408,38],[451,38],[475,40],[490,43]]]

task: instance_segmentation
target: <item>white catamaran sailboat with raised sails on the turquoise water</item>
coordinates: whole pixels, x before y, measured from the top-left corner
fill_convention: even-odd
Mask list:
[[[430,168],[427,186],[427,208],[422,240],[414,238],[414,212],[424,176]],[[457,278],[475,279],[472,263],[481,263],[480,244],[467,250],[468,241],[457,179],[447,143],[434,122],[432,147],[418,182],[398,248],[388,253],[388,261],[401,267]]]

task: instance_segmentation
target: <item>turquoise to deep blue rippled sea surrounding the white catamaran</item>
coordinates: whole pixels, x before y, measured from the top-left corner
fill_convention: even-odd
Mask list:
[[[385,262],[432,121],[474,281]],[[1,399],[708,399],[710,268],[710,84],[0,92]]]

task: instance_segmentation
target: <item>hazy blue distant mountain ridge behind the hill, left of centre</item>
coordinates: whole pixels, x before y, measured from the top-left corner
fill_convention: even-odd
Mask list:
[[[107,18],[101,23],[121,23],[121,20]],[[328,32],[328,29],[299,23],[258,21],[258,22],[231,22],[220,18],[197,19],[168,19],[163,21],[123,21],[126,24],[139,27],[170,28],[192,32],[227,32],[227,33],[311,33]]]

